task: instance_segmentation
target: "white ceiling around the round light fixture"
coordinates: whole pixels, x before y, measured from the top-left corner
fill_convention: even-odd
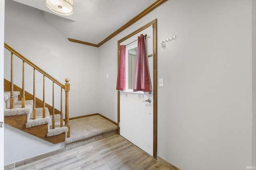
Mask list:
[[[74,13],[55,14],[45,0],[14,0],[44,11],[44,18],[67,38],[98,44],[156,0],[73,0]]]

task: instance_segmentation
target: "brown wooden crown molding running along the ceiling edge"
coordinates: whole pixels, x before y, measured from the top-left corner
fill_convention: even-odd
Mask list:
[[[130,27],[132,24],[134,24],[135,22],[137,22],[138,20],[140,20],[141,18],[146,16],[148,13],[152,12],[158,6],[164,4],[164,2],[166,2],[166,1],[168,1],[168,0],[156,0],[156,2],[151,4],[148,8],[146,8],[145,10],[140,12],[140,14],[138,14],[137,16],[132,18],[130,21],[125,23],[122,27],[118,28],[116,31],[114,31],[112,34],[110,34],[108,37],[106,37],[104,40],[102,40],[98,44],[87,43],[87,42],[84,42],[84,41],[80,41],[80,40],[77,40],[77,39],[71,39],[71,38],[68,38],[68,40],[72,41],[72,42],[75,42],[75,43],[81,43],[81,44],[85,44],[85,45],[90,45],[90,46],[93,46],[93,47],[100,47],[101,45],[103,45],[104,43],[106,43],[107,41],[112,39],[114,36],[118,35],[122,31],[124,31],[124,29]]]

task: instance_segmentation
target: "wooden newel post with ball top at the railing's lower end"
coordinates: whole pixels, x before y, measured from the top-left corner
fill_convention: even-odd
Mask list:
[[[70,91],[70,84],[69,78],[65,79],[65,92],[66,92],[66,105],[65,105],[65,126],[68,127],[67,137],[70,137],[70,124],[69,124],[69,91]]]

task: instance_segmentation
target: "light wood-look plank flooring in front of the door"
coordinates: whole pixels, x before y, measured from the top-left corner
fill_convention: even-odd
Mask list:
[[[16,170],[169,170],[132,143],[114,135]]]

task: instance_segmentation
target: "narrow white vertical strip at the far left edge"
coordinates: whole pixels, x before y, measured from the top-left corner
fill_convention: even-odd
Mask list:
[[[4,97],[4,1],[0,1],[0,98]],[[4,121],[3,103],[0,106],[0,121]],[[0,128],[0,170],[4,169],[4,128]]]

